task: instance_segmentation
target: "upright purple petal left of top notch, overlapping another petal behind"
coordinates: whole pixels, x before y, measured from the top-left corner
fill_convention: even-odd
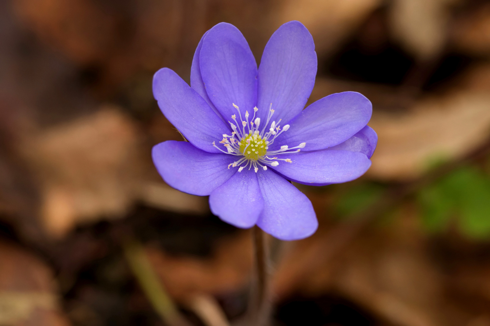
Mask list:
[[[257,104],[257,63],[242,33],[226,22],[211,28],[199,55],[202,80],[209,98],[225,120],[237,113],[232,103],[253,112]]]

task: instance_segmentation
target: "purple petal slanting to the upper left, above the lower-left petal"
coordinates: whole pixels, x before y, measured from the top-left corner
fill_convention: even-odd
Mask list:
[[[230,128],[174,71],[162,68],[155,73],[153,96],[167,119],[194,146],[206,152],[220,152],[213,147],[213,141],[220,141]]]

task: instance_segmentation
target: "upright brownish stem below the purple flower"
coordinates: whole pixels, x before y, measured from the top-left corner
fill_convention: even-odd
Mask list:
[[[258,226],[252,229],[254,242],[254,280],[249,307],[249,325],[267,326],[270,322],[270,257],[266,244],[266,234]]]

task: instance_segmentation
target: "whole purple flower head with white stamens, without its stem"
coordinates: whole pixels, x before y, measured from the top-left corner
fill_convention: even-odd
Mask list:
[[[257,224],[284,240],[312,235],[310,200],[288,180],[327,185],[358,178],[377,135],[367,126],[371,103],[336,93],[304,109],[317,74],[315,44],[300,22],[270,38],[260,66],[244,36],[221,22],[197,45],[191,87],[169,68],[153,78],[153,94],[189,142],[153,147],[158,172],[172,187],[209,195],[211,211],[241,228]]]

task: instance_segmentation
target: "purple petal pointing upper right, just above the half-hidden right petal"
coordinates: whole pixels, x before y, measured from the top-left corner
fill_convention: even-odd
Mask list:
[[[305,151],[339,145],[368,124],[371,112],[371,102],[360,93],[328,95],[296,115],[289,130],[278,136],[273,145],[293,147],[306,142]]]

